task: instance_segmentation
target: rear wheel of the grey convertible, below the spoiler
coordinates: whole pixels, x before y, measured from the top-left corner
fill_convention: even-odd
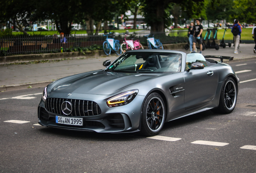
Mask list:
[[[221,89],[219,107],[213,111],[217,113],[228,114],[235,109],[237,101],[237,86],[233,78],[228,77]]]

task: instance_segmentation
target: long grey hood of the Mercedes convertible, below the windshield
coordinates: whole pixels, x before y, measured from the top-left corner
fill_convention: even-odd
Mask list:
[[[110,95],[128,86],[159,76],[96,71],[73,75],[52,83],[52,92]],[[135,88],[134,88],[135,89]]]

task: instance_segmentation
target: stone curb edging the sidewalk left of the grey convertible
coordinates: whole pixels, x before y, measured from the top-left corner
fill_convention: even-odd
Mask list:
[[[11,90],[19,90],[19,89],[46,87],[48,84],[52,82],[53,80],[45,81],[45,82],[27,83],[27,84],[7,85],[7,86],[0,87],[0,91],[11,91]]]

